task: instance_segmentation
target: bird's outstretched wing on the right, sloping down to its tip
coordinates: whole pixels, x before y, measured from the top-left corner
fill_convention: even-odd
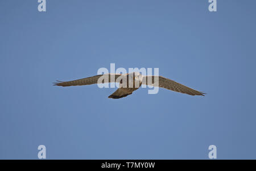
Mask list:
[[[195,95],[204,96],[205,94],[203,92],[196,91],[195,89],[192,89],[180,83],[177,83],[174,80],[164,78],[163,76],[143,76],[142,84],[146,84],[150,86],[158,86],[158,87],[170,89],[172,91],[186,93],[192,96],[195,96]]]

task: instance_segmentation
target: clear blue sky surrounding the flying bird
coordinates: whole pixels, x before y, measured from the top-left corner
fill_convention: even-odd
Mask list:
[[[256,2],[0,1],[0,159],[256,159]],[[206,92],[52,86],[159,68]]]

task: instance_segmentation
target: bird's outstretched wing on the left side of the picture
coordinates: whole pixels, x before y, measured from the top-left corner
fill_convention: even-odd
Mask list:
[[[119,76],[122,78],[122,74],[104,74],[104,75],[95,75],[90,76],[88,78],[82,78],[78,80],[72,80],[69,82],[60,82],[53,83],[53,86],[83,86],[97,83],[110,83],[110,82],[118,82],[120,80]]]

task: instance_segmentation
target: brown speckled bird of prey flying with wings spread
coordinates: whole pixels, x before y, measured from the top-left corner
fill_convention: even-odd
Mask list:
[[[164,78],[163,76],[144,76],[139,72],[131,72],[130,74],[104,74],[104,75],[95,75],[88,78],[72,80],[69,82],[60,82],[53,83],[53,86],[83,86],[90,84],[100,84],[100,83],[110,83],[117,82],[119,83],[119,88],[115,91],[109,98],[120,99],[131,95],[135,90],[141,87],[142,84],[148,86],[157,86],[172,91],[186,93],[188,95],[199,95],[204,96],[205,93],[196,91],[195,89],[184,86],[180,83]]]

